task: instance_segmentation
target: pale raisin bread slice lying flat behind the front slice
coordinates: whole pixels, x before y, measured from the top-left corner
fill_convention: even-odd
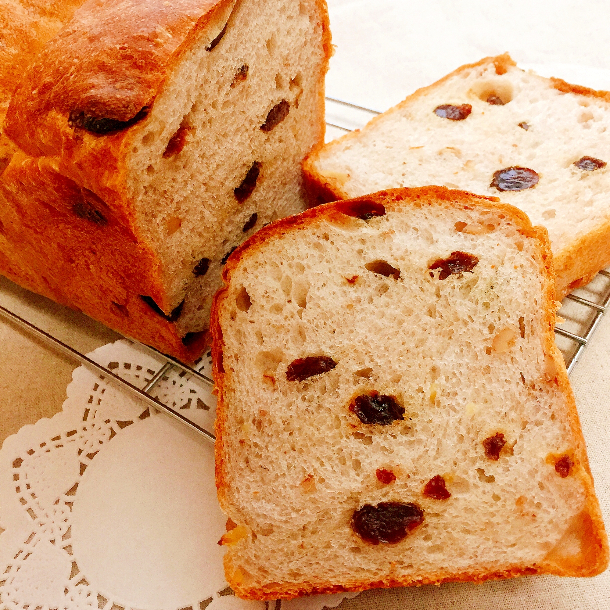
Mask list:
[[[454,108],[453,120],[443,106]],[[607,91],[524,72],[508,55],[486,57],[321,146],[304,168],[315,203],[426,184],[487,196],[529,185],[500,196],[548,229],[561,299],[610,264],[608,129]],[[497,183],[511,168],[534,173]]]

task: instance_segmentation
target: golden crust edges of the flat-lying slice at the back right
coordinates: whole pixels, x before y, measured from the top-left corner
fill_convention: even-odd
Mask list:
[[[454,70],[447,76],[444,76],[439,81],[423,87],[407,96],[400,104],[394,106],[384,112],[382,115],[373,118],[364,129],[372,126],[376,121],[385,119],[388,115],[410,104],[414,99],[425,94],[427,91],[436,88],[454,76],[478,66],[493,63],[497,74],[504,74],[509,66],[517,64],[511,59],[508,53],[497,57],[485,57],[480,62],[468,63]],[[551,77],[553,87],[562,93],[575,93],[576,95],[584,95],[592,98],[600,98],[610,102],[610,91],[596,91],[588,87],[580,85],[572,85],[561,79]],[[328,145],[320,145],[315,147],[312,152],[303,160],[303,179],[306,187],[306,192],[309,197],[309,203],[312,206],[326,203],[327,201],[337,201],[337,199],[347,199],[347,193],[341,188],[340,182],[337,179],[325,176],[316,170],[315,163],[320,158],[320,153],[332,151],[332,148],[339,143],[346,142],[351,138],[357,137],[360,130],[345,134],[342,137],[334,140]],[[565,295],[572,292],[576,288],[588,284],[595,274],[601,269],[610,265],[610,220],[605,220],[600,223],[597,228],[590,231],[576,242],[572,243],[567,248],[555,253],[555,272],[556,272],[556,299],[561,300]]]

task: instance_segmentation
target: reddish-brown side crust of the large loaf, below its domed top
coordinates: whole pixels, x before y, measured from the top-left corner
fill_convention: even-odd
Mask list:
[[[140,298],[160,300],[151,290],[158,262],[121,220],[48,159],[18,153],[0,179],[0,273],[192,362],[202,337],[184,345],[176,326]]]

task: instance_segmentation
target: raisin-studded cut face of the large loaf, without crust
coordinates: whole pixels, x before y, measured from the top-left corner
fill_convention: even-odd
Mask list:
[[[171,75],[128,159],[145,237],[172,302],[184,299],[182,332],[207,328],[231,249],[304,209],[300,163],[320,136],[324,49],[304,44],[322,39],[317,3],[285,0],[271,16],[240,1],[216,29]]]

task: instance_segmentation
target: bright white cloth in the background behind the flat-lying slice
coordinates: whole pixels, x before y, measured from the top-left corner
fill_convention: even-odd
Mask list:
[[[610,4],[601,0],[328,0],[328,9],[336,53],[326,93],[360,106],[387,110],[506,51],[520,65],[567,65],[553,74],[566,80],[585,66],[589,86],[610,88]]]

